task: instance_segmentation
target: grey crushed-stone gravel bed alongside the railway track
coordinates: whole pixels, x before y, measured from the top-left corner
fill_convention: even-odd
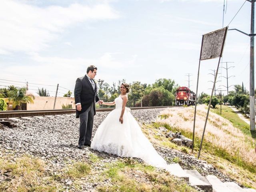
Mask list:
[[[161,110],[133,110],[131,113],[140,124],[149,124],[154,122]],[[93,135],[108,113],[96,113]],[[85,147],[82,150],[76,148],[79,136],[79,120],[75,118],[75,114],[19,120],[14,124],[16,127],[1,126],[0,128],[0,158],[10,155],[15,160],[16,157],[23,154],[36,156],[48,162],[48,170],[52,174],[65,166],[67,162],[89,159],[92,153],[100,156],[103,159],[102,163],[114,162],[120,159],[118,156],[100,153],[89,147]],[[201,170],[203,175],[213,174],[222,181],[231,181],[230,178],[205,161],[198,160],[177,150],[160,146],[155,146],[155,148],[168,163],[172,163],[173,158],[179,157],[181,160],[180,165],[183,169],[196,168]],[[101,166],[98,165],[99,170]],[[3,175],[0,172],[0,182],[6,179],[8,179],[8,175]],[[95,181],[96,183],[85,181],[84,190],[94,191],[94,188],[99,184],[97,179]],[[63,182],[67,183],[66,188],[68,189],[70,187],[68,182]],[[110,181],[106,180],[104,182],[108,183]]]

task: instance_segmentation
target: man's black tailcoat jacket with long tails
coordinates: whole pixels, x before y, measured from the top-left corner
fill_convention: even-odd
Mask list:
[[[94,102],[94,115],[95,115],[96,113],[95,103],[100,100],[98,97],[96,83],[95,83],[95,90],[93,90],[92,84],[87,76],[77,78],[74,95],[75,95],[75,103],[81,103],[81,106],[82,106],[81,111],[76,110],[76,118],[79,118],[79,115],[85,112],[93,102]]]

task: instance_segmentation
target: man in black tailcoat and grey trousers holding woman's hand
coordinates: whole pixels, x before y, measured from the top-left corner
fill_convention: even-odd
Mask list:
[[[82,149],[84,145],[91,145],[93,118],[96,113],[95,103],[102,103],[98,97],[97,86],[94,77],[97,68],[93,65],[89,66],[86,75],[76,80],[74,90],[76,103],[76,118],[80,119],[80,131],[78,148]]]

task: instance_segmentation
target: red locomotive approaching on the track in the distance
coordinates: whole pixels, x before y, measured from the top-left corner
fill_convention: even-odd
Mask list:
[[[196,94],[188,87],[179,87],[176,90],[175,105],[195,105]]]

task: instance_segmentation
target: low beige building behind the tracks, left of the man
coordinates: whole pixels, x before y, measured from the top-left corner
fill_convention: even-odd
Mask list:
[[[8,105],[7,110],[14,110],[12,108],[12,103],[9,102],[8,98],[5,98]],[[43,110],[43,109],[53,109],[55,97],[40,97],[35,96],[34,103],[24,103],[22,104],[22,110]],[[72,97],[57,97],[55,109],[62,109],[62,105],[70,106],[70,108],[75,109],[75,99]],[[18,107],[19,108],[19,107]],[[16,107],[15,110],[18,109]]]

